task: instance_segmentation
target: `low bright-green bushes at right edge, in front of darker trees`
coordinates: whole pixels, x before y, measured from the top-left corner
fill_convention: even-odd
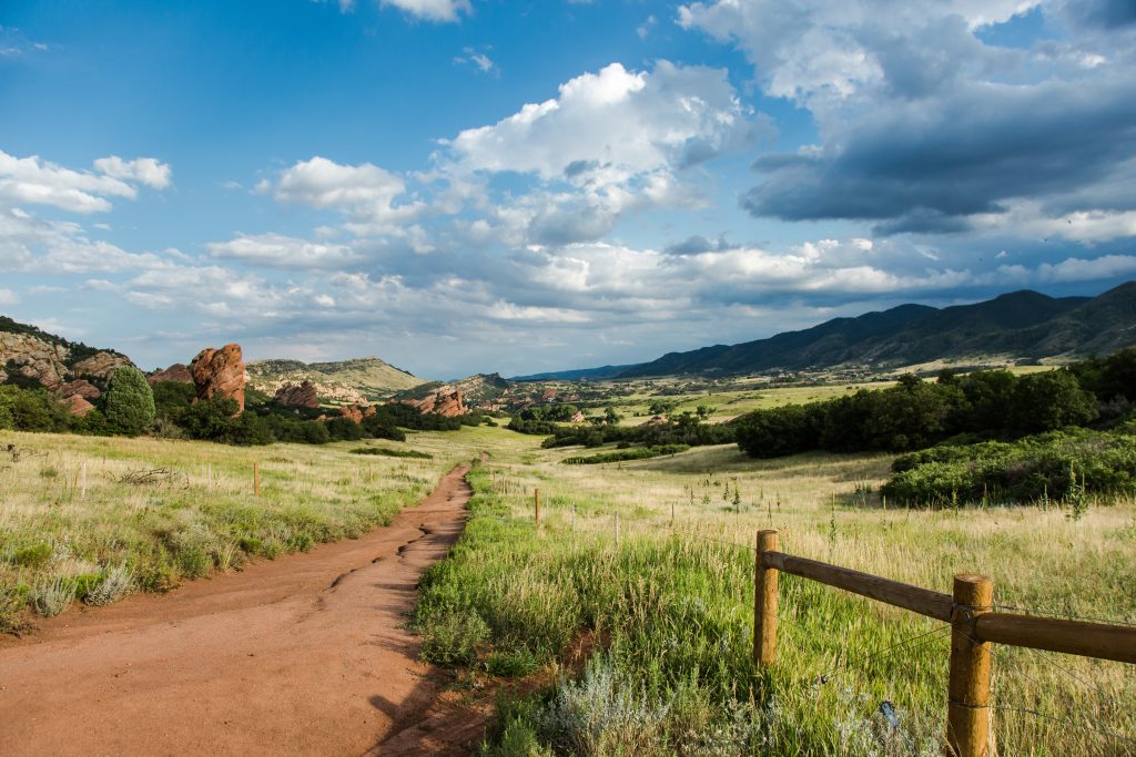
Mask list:
[[[1013,443],[942,445],[899,457],[880,494],[914,506],[1036,502],[1084,507],[1089,495],[1136,494],[1136,423],[1070,429]]]

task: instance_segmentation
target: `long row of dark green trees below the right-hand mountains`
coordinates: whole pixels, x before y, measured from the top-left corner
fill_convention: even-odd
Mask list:
[[[736,421],[737,444],[754,457],[778,457],[907,452],[959,435],[1012,439],[1114,419],[1130,409],[1134,393],[1136,350],[1022,377],[1005,370],[944,371],[934,382],[904,376],[888,389],[744,415]]]

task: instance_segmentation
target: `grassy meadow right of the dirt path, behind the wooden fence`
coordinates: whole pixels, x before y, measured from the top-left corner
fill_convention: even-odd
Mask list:
[[[941,754],[946,624],[783,575],[780,659],[754,670],[760,529],[791,554],[929,589],[982,572],[1002,606],[1136,623],[1131,502],[1080,520],[1055,505],[885,510],[891,455],[720,446],[562,464],[577,452],[478,466],[466,535],[424,581],[428,658],[475,688],[551,681],[500,705],[487,754]],[[580,647],[590,662],[566,665]],[[1130,666],[999,647],[994,698],[1000,754],[1136,750]]]

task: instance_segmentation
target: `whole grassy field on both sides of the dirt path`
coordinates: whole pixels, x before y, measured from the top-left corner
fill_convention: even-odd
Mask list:
[[[426,657],[457,666],[471,691],[551,682],[501,701],[488,754],[939,754],[945,624],[785,575],[780,661],[754,670],[759,529],[778,529],[785,552],[926,588],[977,571],[1001,605],[1136,623],[1131,502],[1080,521],[1059,507],[885,511],[887,455],[755,461],[719,446],[566,465],[580,449],[540,441],[481,427],[369,443],[431,455],[402,459],[352,454],[360,443],[5,434],[0,451],[18,455],[0,456],[0,617],[15,630],[81,599],[357,536],[486,453],[470,474],[473,518],[427,573],[414,625]],[[153,469],[168,473],[126,478]],[[585,668],[560,667],[579,647]],[[1001,647],[994,697],[1000,754],[1133,751],[1130,666]]]

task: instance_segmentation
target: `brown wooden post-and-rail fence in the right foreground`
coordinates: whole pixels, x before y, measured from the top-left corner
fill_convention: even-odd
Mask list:
[[[792,573],[951,624],[946,740],[952,755],[986,757],[991,723],[991,645],[1004,644],[1136,664],[1136,628],[994,611],[994,583],[984,575],[954,577],[954,594],[939,594],[778,552],[777,531],[758,533],[754,567],[753,662],[777,661],[777,577]]]

